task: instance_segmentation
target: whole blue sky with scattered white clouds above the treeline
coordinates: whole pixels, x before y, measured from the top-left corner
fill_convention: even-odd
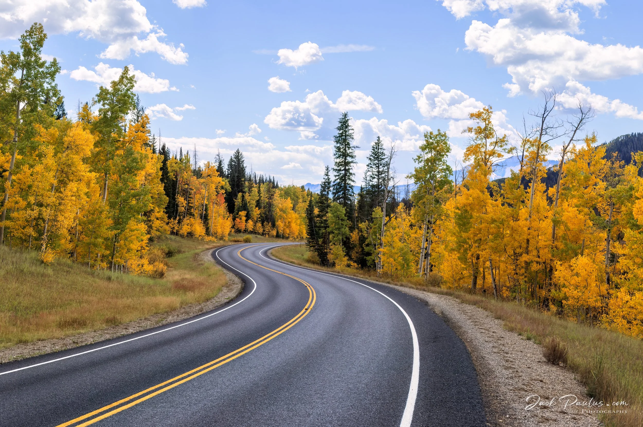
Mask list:
[[[207,161],[239,147],[248,166],[284,183],[320,181],[337,118],[349,110],[361,147],[358,184],[377,135],[395,143],[404,183],[425,130],[448,130],[451,162],[461,161],[469,112],[493,105],[498,130],[515,138],[512,126],[546,88],[560,93],[561,119],[578,101],[592,105],[586,132],[599,141],[643,131],[642,8],[604,0],[23,0],[0,6],[0,49],[15,49],[24,29],[43,22],[44,52],[65,70],[59,85],[69,112],[131,64],[152,131],[173,149],[196,145]]]

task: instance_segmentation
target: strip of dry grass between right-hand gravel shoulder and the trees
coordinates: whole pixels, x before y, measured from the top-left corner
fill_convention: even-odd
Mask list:
[[[576,324],[516,302],[495,301],[491,296],[483,297],[424,286],[417,280],[404,283],[386,277],[377,278],[372,272],[351,268],[339,270],[322,268],[311,263],[304,245],[276,248],[273,249],[272,254],[296,265],[333,270],[342,274],[455,297],[462,302],[490,311],[494,317],[504,320],[505,329],[534,340],[537,344],[547,344],[547,340],[555,337],[565,345],[568,352],[566,365],[586,385],[588,394],[610,404],[609,407],[603,406],[600,409],[628,411],[627,414],[601,415],[599,418],[607,426],[643,426],[643,342],[641,340],[608,329]],[[583,399],[579,398],[579,400]],[[629,406],[613,406],[614,401],[621,400],[629,403]]]

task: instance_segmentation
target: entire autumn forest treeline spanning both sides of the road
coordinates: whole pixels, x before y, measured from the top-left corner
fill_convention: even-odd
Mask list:
[[[228,162],[170,152],[151,135],[127,67],[68,118],[59,64],[41,58],[45,39],[34,24],[19,52],[0,54],[3,245],[46,263],[163,275],[149,243],[165,234],[305,238],[321,265],[493,295],[643,338],[643,153],[608,155],[585,133],[590,109],[558,121],[548,92],[518,143],[496,132],[491,107],[471,114],[455,180],[448,135],[428,132],[403,200],[395,146],[379,137],[354,193],[358,146],[344,113],[334,163],[312,193],[248,172],[240,150]],[[554,143],[562,148],[548,171]],[[518,168],[492,180],[509,157]]]

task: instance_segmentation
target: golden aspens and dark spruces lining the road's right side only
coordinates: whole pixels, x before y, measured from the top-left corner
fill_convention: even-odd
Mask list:
[[[395,147],[371,146],[363,186],[345,195],[355,164],[347,114],[335,137],[335,162],[311,195],[307,244],[313,261],[370,268],[395,279],[493,295],[590,325],[643,338],[643,152],[608,155],[583,134],[592,110],[555,118],[556,93],[532,111],[535,125],[510,144],[491,107],[472,113],[462,175],[447,163],[446,132],[428,132],[408,175],[410,200],[395,200]],[[526,126],[525,126],[526,128]],[[552,153],[554,141],[561,146]],[[548,156],[557,155],[547,186]],[[509,157],[518,168],[491,180]],[[458,180],[457,177],[460,177]]]

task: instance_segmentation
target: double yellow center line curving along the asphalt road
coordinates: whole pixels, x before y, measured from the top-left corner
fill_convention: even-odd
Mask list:
[[[257,245],[253,245],[253,246],[257,246]],[[134,405],[138,405],[139,403],[146,401],[147,399],[150,399],[158,394],[161,394],[167,390],[170,390],[170,388],[174,388],[179,384],[186,383],[187,381],[190,381],[190,379],[197,378],[197,376],[203,375],[206,372],[209,372],[210,370],[215,369],[216,367],[219,367],[221,365],[224,365],[225,363],[230,362],[231,360],[235,360],[242,354],[246,354],[249,351],[256,349],[262,344],[266,344],[266,342],[272,340],[273,338],[275,338],[275,336],[278,336],[281,333],[284,333],[285,331],[293,327],[294,324],[302,320],[302,318],[304,318],[309,313],[309,311],[311,310],[312,306],[314,306],[316,301],[316,293],[315,293],[315,290],[312,288],[312,286],[298,277],[294,277],[293,275],[289,275],[289,274],[285,274],[284,272],[273,270],[272,268],[268,268],[263,265],[258,265],[257,263],[253,263],[253,261],[250,261],[249,259],[244,258],[241,255],[241,251],[246,248],[249,248],[249,247],[242,248],[237,252],[237,255],[239,255],[239,257],[241,257],[245,261],[248,261],[251,264],[260,266],[261,268],[266,268],[266,270],[270,270],[271,272],[287,275],[288,277],[291,277],[296,281],[303,283],[304,286],[306,286],[309,292],[309,297],[308,297],[308,302],[306,302],[306,305],[303,307],[302,311],[300,311],[295,317],[291,318],[290,320],[285,322],[285,324],[278,327],[271,333],[267,333],[266,335],[262,336],[258,340],[255,340],[250,344],[246,344],[243,347],[240,347],[239,349],[236,349],[235,351],[232,351],[231,353],[226,354],[225,356],[221,356],[220,358],[215,359],[212,362],[208,362],[205,365],[201,365],[195,369],[188,370],[188,372],[185,372],[185,374],[181,374],[174,378],[168,379],[167,381],[163,381],[162,383],[157,384],[153,387],[146,388],[141,392],[132,394],[132,396],[128,396],[128,397],[125,397],[124,399],[120,399],[119,401],[111,403],[107,406],[103,406],[100,409],[89,412],[88,414],[77,417],[71,421],[59,424],[56,427],[89,426],[89,424],[97,423],[102,419],[111,417],[111,415],[118,414],[119,412],[126,410],[127,408],[131,408]],[[78,424],[78,423],[81,423],[81,424]]]

